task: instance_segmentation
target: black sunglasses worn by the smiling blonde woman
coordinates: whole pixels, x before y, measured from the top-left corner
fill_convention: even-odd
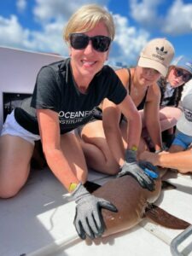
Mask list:
[[[85,49],[91,41],[93,48],[100,52],[107,51],[111,44],[111,38],[105,36],[88,37],[83,33],[71,33],[69,40],[74,49]]]

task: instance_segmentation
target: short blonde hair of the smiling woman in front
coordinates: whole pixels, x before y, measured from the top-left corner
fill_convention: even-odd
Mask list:
[[[78,9],[68,20],[63,38],[68,42],[70,33],[89,32],[99,22],[104,23],[108,30],[108,37],[113,40],[115,33],[113,16],[97,4],[86,4]]]

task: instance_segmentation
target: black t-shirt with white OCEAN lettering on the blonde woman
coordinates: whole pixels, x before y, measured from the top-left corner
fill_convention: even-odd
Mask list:
[[[96,73],[85,94],[79,92],[68,58],[41,68],[32,97],[15,108],[15,119],[27,131],[39,134],[36,108],[51,109],[58,113],[62,134],[86,124],[104,98],[119,104],[125,96],[125,87],[108,66]]]

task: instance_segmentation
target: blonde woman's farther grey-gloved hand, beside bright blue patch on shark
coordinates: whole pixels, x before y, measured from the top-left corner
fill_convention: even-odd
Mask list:
[[[143,189],[153,191],[154,178],[157,178],[158,175],[154,171],[155,166],[152,166],[153,165],[151,163],[146,161],[137,162],[137,151],[128,149],[125,153],[125,163],[121,167],[117,177],[131,175],[131,177],[134,177]]]

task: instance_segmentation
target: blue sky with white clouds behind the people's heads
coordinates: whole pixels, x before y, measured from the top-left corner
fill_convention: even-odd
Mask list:
[[[1,0],[0,45],[68,55],[63,26],[85,3],[98,3],[112,14],[116,26],[109,60],[135,65],[152,38],[167,38],[176,56],[192,56],[191,0]]]

